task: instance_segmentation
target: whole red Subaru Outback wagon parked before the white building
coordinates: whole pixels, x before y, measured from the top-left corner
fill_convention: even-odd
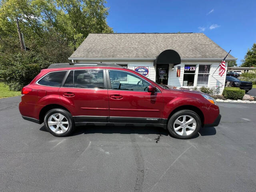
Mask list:
[[[221,118],[207,94],[159,85],[116,64],[52,64],[22,89],[21,98],[22,117],[44,122],[54,136],[87,124],[133,124],[161,126],[187,139]]]

